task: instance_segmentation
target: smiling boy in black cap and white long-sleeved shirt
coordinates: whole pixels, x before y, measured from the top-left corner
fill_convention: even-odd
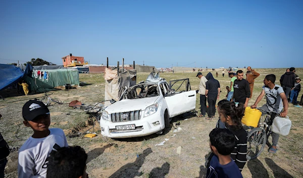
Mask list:
[[[29,100],[22,108],[23,124],[34,134],[19,150],[18,177],[46,177],[49,153],[60,147],[67,147],[63,130],[48,129],[51,116],[41,101]]]

